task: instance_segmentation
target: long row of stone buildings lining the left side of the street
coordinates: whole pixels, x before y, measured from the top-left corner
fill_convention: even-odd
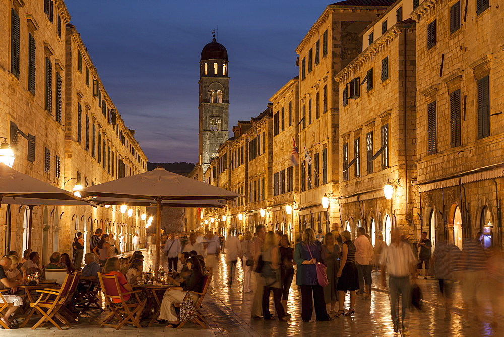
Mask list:
[[[145,171],[147,158],[101,85],[64,2],[5,0],[0,16],[9,23],[0,40],[0,136],[15,152],[13,168],[69,191]],[[43,263],[54,250],[70,252],[76,232],[87,239],[98,227],[145,230],[142,208],[129,217],[118,207],[2,205],[5,252],[28,247],[30,211],[30,246]]]

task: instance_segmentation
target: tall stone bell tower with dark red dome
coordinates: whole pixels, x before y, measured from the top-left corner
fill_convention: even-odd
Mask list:
[[[215,34],[215,31],[212,32]],[[229,60],[227,50],[215,40],[201,51],[199,164],[203,173],[220,144],[229,138]]]

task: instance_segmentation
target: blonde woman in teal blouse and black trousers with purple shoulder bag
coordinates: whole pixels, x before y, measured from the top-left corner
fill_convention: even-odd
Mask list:
[[[317,280],[315,264],[327,265],[326,253],[320,241],[315,239],[315,231],[307,228],[303,232],[301,242],[296,244],[294,261],[297,263],[296,283],[301,288],[301,318],[309,322],[315,303],[315,317],[318,321],[333,320],[326,310],[324,289]]]

